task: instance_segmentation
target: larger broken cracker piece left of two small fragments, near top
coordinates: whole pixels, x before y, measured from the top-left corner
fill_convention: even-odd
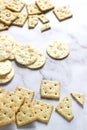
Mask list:
[[[35,28],[38,24],[38,16],[32,15],[28,17],[28,28]]]

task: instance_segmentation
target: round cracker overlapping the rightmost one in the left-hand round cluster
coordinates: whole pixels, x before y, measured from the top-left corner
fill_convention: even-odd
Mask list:
[[[15,60],[21,65],[30,65],[36,61],[33,48],[28,44],[19,44],[15,52]]]

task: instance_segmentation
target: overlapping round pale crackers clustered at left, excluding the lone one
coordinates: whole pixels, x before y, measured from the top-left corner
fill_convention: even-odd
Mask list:
[[[0,35],[0,84],[5,84],[14,77],[11,61],[29,69],[39,69],[46,62],[45,55],[31,44],[21,44],[7,34]]]

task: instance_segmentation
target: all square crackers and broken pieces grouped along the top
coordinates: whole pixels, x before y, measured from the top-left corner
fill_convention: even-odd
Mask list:
[[[22,13],[26,7],[27,13]],[[39,20],[42,22],[41,32],[51,29],[50,21],[46,17],[48,11],[55,7],[51,0],[36,0],[35,3],[26,4],[21,0],[0,0],[0,31],[9,29],[11,25],[23,27],[28,19],[28,28],[35,28]],[[66,6],[53,10],[53,13],[59,21],[71,18],[73,15]]]

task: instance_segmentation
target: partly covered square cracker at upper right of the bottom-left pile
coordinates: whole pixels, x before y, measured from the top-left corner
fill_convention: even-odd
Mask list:
[[[34,97],[34,91],[27,89],[27,88],[23,88],[23,87],[16,87],[15,89],[15,93],[19,93],[21,95],[23,95],[24,97],[28,98],[29,101],[32,101],[33,97]]]

